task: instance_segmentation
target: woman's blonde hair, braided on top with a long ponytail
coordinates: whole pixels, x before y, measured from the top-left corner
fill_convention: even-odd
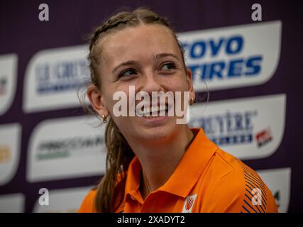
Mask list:
[[[91,83],[97,88],[101,89],[101,75],[98,74],[97,70],[101,64],[99,62],[101,47],[100,45],[97,46],[98,41],[109,35],[109,33],[140,24],[159,24],[168,28],[179,45],[185,66],[184,50],[177,40],[177,35],[167,21],[167,18],[160,17],[157,13],[144,8],[138,8],[134,11],[121,11],[104,21],[101,26],[95,29],[90,38],[89,55],[87,58],[89,60]],[[114,212],[122,202],[126,184],[126,171],[134,157],[134,153],[112,118],[109,119],[106,126],[105,143],[107,149],[106,173],[97,187],[94,208],[97,212]],[[118,175],[119,183],[117,183]],[[117,198],[116,196],[121,197]],[[116,206],[114,206],[115,204]]]

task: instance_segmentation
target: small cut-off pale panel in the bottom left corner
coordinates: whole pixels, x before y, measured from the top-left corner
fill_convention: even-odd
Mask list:
[[[25,196],[21,193],[0,196],[0,213],[23,213]]]

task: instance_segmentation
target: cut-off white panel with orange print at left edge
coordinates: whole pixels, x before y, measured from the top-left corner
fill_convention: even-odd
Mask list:
[[[0,186],[11,181],[20,159],[21,125],[0,126]]]

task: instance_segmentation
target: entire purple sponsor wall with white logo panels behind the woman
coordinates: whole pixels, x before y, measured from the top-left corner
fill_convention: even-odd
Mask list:
[[[257,170],[281,212],[303,211],[299,1],[258,1],[262,21],[253,1],[45,1],[49,21],[41,3],[0,4],[1,212],[77,211],[104,174],[104,126],[77,89],[86,35],[121,6],[172,19],[198,94],[189,125]]]

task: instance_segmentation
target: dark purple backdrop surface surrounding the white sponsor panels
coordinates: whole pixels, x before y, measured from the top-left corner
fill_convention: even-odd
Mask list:
[[[38,20],[38,6],[47,3],[50,21]],[[22,192],[26,196],[25,211],[31,212],[38,199],[38,189],[62,189],[92,185],[99,176],[60,179],[30,183],[26,180],[28,140],[33,128],[45,119],[79,116],[81,108],[58,109],[25,114],[23,79],[28,61],[36,52],[48,48],[81,45],[94,26],[121,6],[150,6],[160,15],[172,18],[178,32],[219,28],[251,21],[251,6],[255,1],[1,1],[0,3],[0,55],[18,54],[18,79],[13,104],[0,118],[0,124],[21,123],[21,160],[15,177],[0,187],[0,195]],[[211,92],[211,100],[268,94],[286,94],[287,111],[282,143],[270,157],[247,160],[255,170],[291,167],[291,194],[288,211],[303,211],[302,205],[302,153],[300,126],[302,126],[303,59],[302,23],[303,4],[300,1],[258,1],[263,9],[264,21],[282,21],[280,62],[275,74],[265,84]]]

